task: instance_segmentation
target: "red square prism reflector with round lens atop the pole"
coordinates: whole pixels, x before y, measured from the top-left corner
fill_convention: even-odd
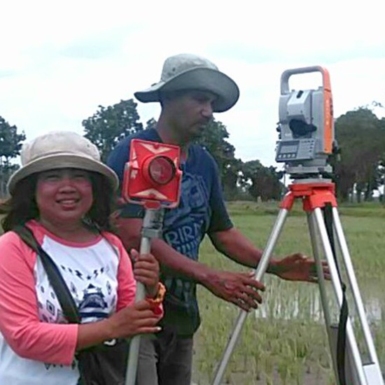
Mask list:
[[[180,158],[179,146],[132,139],[123,176],[123,198],[137,204],[152,201],[176,207],[182,176]]]

